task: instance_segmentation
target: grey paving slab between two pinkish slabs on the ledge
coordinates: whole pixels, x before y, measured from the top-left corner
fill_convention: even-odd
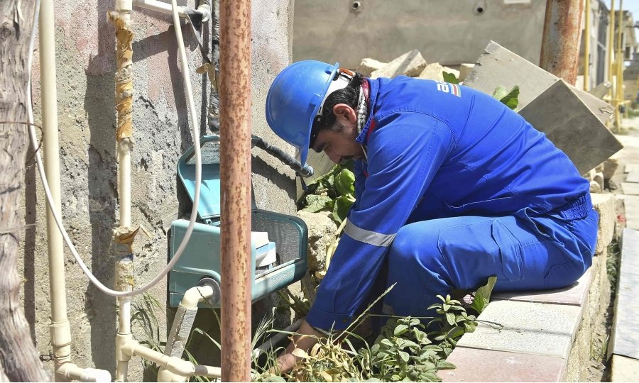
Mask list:
[[[464,334],[458,346],[567,360],[581,320],[581,307],[493,301],[479,319],[481,321],[475,332]]]

